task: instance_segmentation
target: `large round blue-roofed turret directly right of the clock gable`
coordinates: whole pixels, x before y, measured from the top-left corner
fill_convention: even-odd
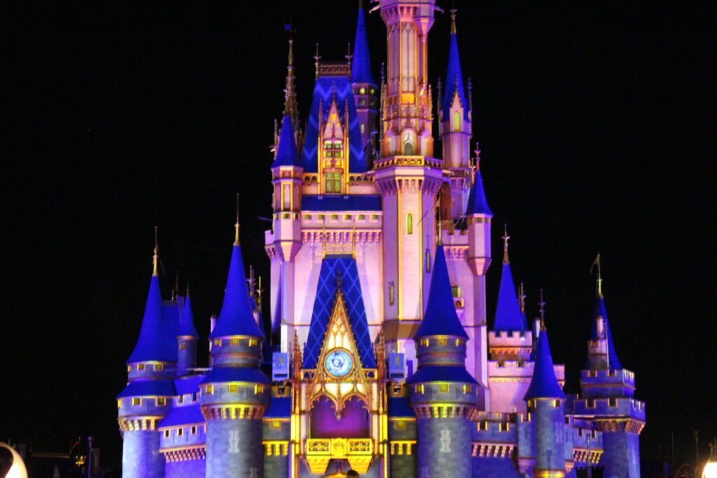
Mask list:
[[[418,421],[418,476],[469,477],[478,383],[465,370],[468,335],[455,312],[442,244],[428,305],[414,336],[418,371],[407,381]]]

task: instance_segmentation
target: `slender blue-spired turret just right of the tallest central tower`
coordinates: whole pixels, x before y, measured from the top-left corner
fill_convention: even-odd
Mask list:
[[[445,93],[439,98],[439,132],[443,145],[443,165],[451,171],[450,203],[452,219],[458,219],[466,210],[470,191],[470,138],[471,105],[466,96],[458,54],[458,36],[455,27],[456,10],[451,10],[451,34],[448,50],[448,69]],[[470,88],[470,82],[469,82]],[[470,90],[469,90],[470,92]],[[440,95],[440,92],[439,92]],[[447,198],[443,198],[445,201]]]

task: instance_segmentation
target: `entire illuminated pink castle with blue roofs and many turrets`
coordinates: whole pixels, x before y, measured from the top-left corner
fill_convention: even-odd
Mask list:
[[[118,396],[123,477],[338,478],[354,469],[376,478],[538,478],[587,467],[640,477],[645,405],[614,348],[599,262],[581,393],[566,396],[544,308],[526,319],[507,231],[495,317],[486,317],[493,214],[480,152],[471,152],[455,11],[447,72],[434,90],[435,0],[377,0],[374,10],[386,24],[385,72],[376,81],[359,6],[347,61],[322,62],[317,51],[305,120],[289,42],[267,167],[270,327],[247,281],[238,214],[209,368],[196,366],[189,293],[162,299],[155,249]]]

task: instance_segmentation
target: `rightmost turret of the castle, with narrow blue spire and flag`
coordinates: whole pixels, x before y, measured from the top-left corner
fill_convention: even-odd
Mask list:
[[[622,367],[612,340],[602,295],[600,256],[597,287],[588,341],[588,370],[581,372],[581,396],[574,414],[594,420],[602,430],[604,453],[600,465],[606,477],[640,476],[640,433],[645,426],[645,403],[635,400],[635,373]]]

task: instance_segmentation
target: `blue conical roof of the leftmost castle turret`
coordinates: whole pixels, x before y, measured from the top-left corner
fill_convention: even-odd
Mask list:
[[[174,335],[170,334],[171,331],[168,330],[168,328],[171,328],[171,324],[168,327],[166,322],[162,310],[159,277],[153,275],[149,283],[149,292],[137,345],[132,350],[127,363],[150,360],[176,362],[176,340],[174,340]]]

